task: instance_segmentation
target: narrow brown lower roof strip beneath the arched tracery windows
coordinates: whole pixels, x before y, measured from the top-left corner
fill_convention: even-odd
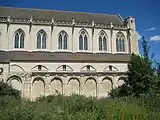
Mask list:
[[[0,51],[0,62],[48,61],[48,62],[128,62],[129,54],[70,53],[44,51]]]

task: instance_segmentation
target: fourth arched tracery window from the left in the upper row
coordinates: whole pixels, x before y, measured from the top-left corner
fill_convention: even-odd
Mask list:
[[[79,35],[79,50],[88,50],[88,37],[85,30],[82,30]]]

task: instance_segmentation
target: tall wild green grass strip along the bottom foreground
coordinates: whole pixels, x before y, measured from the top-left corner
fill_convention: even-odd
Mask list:
[[[0,120],[158,120],[159,116],[159,96],[96,99],[58,95],[34,102],[0,97]]]

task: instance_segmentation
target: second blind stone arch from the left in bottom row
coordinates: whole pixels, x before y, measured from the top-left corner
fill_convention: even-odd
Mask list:
[[[34,78],[32,82],[32,98],[42,97],[45,95],[45,82],[41,77]]]

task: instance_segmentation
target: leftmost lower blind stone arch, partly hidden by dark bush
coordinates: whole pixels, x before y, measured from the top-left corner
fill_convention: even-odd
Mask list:
[[[22,92],[23,90],[23,83],[22,79],[17,75],[12,75],[7,79],[7,83],[9,83],[14,89],[19,90]]]

